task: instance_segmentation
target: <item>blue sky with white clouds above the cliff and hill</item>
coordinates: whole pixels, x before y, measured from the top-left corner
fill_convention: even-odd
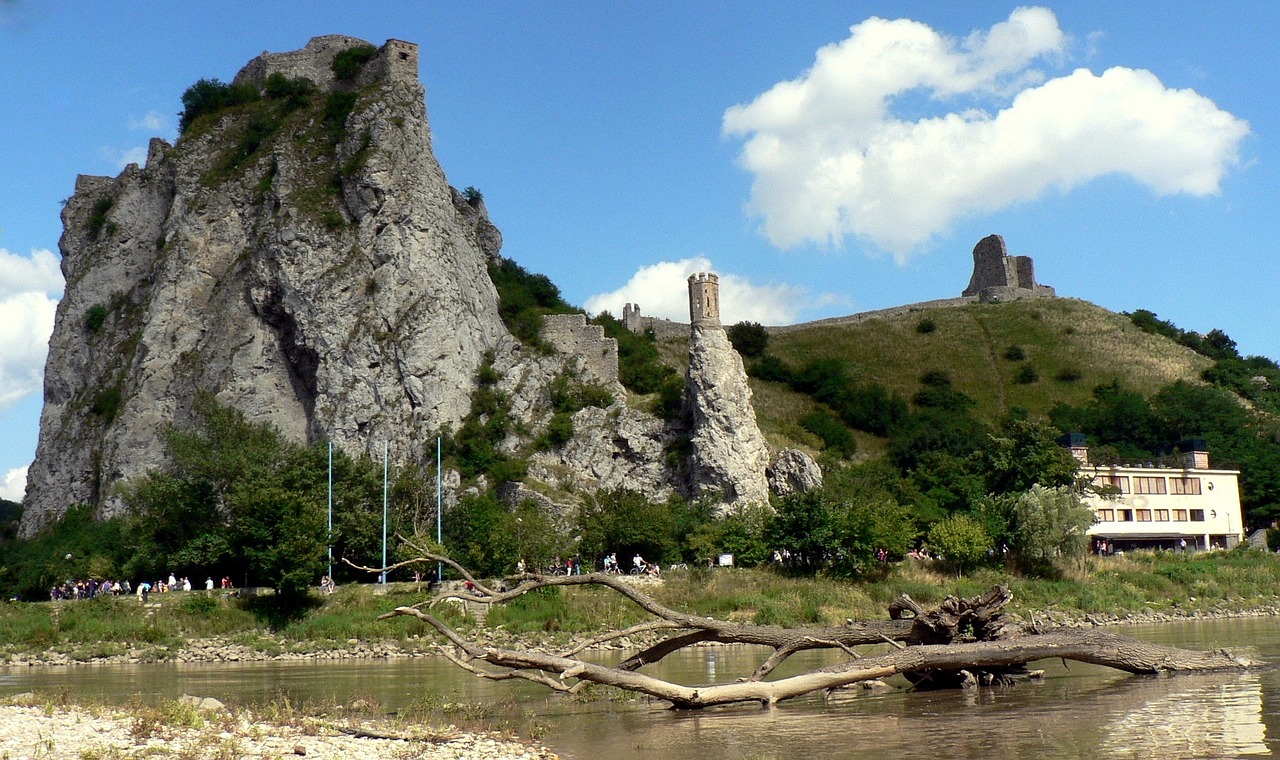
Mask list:
[[[451,184],[593,313],[687,321],[694,271],[726,322],[950,298],[996,233],[1060,296],[1280,360],[1277,27],[1270,0],[0,0],[0,496],[76,175],[142,161],[262,51],[419,44]]]

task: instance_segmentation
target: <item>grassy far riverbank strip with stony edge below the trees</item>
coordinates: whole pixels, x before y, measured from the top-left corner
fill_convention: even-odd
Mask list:
[[[771,568],[698,569],[669,573],[645,590],[664,605],[699,615],[783,626],[883,619],[888,603],[902,592],[928,606],[995,583],[1012,590],[1011,614],[1059,626],[1280,615],[1280,558],[1262,551],[1091,557],[1057,578],[1025,578],[998,568],[954,577],[914,560],[876,571],[868,580],[847,582],[787,577]],[[128,598],[8,604],[0,606],[0,664],[424,656],[438,645],[425,623],[376,618],[425,596],[426,587],[415,583],[351,585],[292,614],[273,609],[269,599],[202,591],[152,595],[145,605]],[[586,587],[550,590],[493,610],[447,604],[434,612],[480,642],[543,649],[563,649],[645,619],[611,590]],[[614,646],[640,644],[630,638]]]

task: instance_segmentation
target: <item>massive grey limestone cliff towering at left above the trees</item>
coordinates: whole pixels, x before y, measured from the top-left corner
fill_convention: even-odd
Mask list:
[[[200,392],[296,440],[390,441],[401,459],[467,413],[507,334],[486,273],[502,238],[431,154],[417,47],[390,41],[338,81],[329,61],[356,45],[246,67],[237,81],[317,87],[257,145],[233,109],[152,141],[145,168],[77,180],[24,535],[74,503],[116,513],[113,485],[163,462]],[[340,124],[334,92],[353,100]]]

